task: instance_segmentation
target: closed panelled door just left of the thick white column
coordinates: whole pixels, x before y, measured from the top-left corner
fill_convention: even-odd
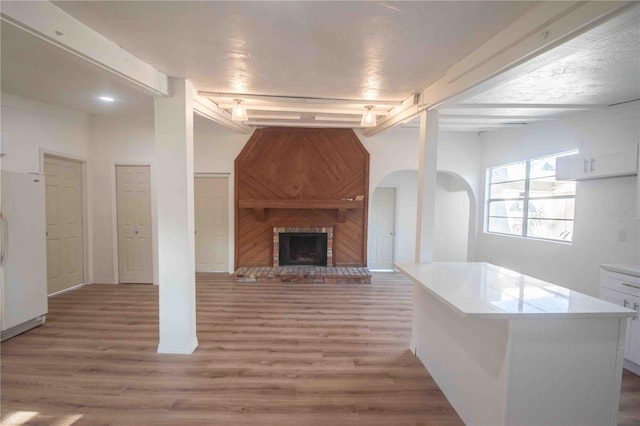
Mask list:
[[[151,181],[149,166],[117,166],[118,277],[152,283]]]

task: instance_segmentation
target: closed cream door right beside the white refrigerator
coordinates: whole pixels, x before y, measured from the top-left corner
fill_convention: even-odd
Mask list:
[[[82,163],[45,156],[47,291],[84,281]]]

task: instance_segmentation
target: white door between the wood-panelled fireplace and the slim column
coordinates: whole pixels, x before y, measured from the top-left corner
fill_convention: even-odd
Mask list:
[[[396,189],[376,188],[369,206],[369,269],[393,269]]]

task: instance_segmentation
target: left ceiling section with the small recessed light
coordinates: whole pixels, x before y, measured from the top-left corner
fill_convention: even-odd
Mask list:
[[[0,36],[3,92],[90,114],[153,110],[153,98],[132,84],[26,31],[2,22]]]

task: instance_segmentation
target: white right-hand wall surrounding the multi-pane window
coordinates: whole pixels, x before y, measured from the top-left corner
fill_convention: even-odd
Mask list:
[[[638,143],[639,116],[640,107],[634,102],[526,128],[484,133],[482,170],[587,145]],[[481,195],[484,205],[484,193]],[[573,244],[479,232],[478,260],[595,296],[600,264],[640,261],[635,197],[635,176],[578,182]]]

